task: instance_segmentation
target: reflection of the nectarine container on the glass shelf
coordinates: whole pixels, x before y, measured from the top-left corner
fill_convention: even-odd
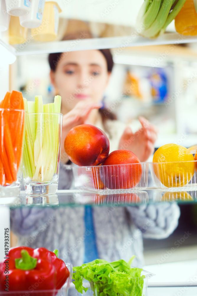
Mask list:
[[[146,191],[133,191],[129,193],[98,194],[93,192],[76,193],[76,202],[88,205],[137,205],[149,202]]]

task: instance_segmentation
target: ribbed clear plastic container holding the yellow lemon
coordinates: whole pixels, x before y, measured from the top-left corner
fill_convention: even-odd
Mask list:
[[[196,161],[149,163],[153,186],[170,191],[196,190]]]

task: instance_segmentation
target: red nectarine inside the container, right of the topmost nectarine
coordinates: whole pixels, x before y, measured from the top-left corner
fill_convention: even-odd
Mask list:
[[[109,189],[134,188],[141,180],[140,160],[129,150],[111,152],[102,165],[101,179]]]

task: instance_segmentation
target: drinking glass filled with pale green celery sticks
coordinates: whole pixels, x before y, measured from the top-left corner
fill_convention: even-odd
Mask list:
[[[23,153],[25,190],[27,193],[49,193],[48,188],[40,188],[40,185],[56,185],[56,189],[58,186],[61,96],[55,96],[54,103],[45,105],[42,96],[35,96],[35,102],[27,102],[24,98],[24,107],[27,112]],[[50,193],[55,193],[56,189]]]

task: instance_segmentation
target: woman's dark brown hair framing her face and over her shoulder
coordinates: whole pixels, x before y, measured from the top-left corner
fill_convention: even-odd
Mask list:
[[[68,39],[64,38],[64,40],[68,40]],[[104,57],[107,61],[108,72],[111,72],[113,69],[113,57],[112,57],[110,50],[109,49],[98,49],[98,50],[104,55]],[[53,72],[56,71],[57,64],[60,61],[62,54],[63,54],[63,52],[49,54],[48,62],[49,62],[50,68]],[[99,113],[101,115],[104,129],[105,129],[105,131],[107,131],[109,133],[109,135],[111,137],[109,128],[107,126],[107,121],[108,120],[116,120],[117,117],[113,112],[109,112],[108,109],[105,107],[100,108]]]

